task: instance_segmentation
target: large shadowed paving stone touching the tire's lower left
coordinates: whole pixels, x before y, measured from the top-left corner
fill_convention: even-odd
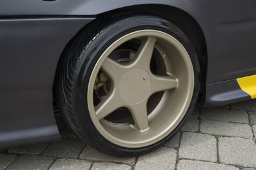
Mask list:
[[[43,155],[61,158],[77,158],[85,145],[86,144],[80,140],[62,139],[61,141],[51,143]]]

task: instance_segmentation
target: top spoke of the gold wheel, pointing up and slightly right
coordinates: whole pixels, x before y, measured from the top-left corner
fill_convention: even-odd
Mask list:
[[[134,57],[132,65],[150,70],[150,60],[154,51],[156,39],[154,38],[143,38],[141,39],[141,45]]]

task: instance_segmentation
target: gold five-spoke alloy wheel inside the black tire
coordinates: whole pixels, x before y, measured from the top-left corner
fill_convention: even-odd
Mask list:
[[[116,62],[109,57],[132,39],[141,43],[129,62]],[[161,55],[166,76],[152,73],[150,61],[154,50]],[[110,87],[108,94],[95,103],[95,80],[101,71],[108,76]],[[88,84],[88,110],[97,131],[108,141],[139,148],[160,141],[179,125],[191,103],[193,89],[193,65],[184,46],[162,31],[135,31],[116,40],[95,64]],[[157,92],[162,94],[148,113],[148,99]],[[130,111],[134,124],[106,121],[105,117],[119,108]]]

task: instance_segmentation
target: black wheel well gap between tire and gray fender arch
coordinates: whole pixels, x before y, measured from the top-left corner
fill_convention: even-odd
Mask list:
[[[153,15],[158,15],[160,17],[166,18],[167,20],[172,21],[174,24],[178,25],[182,31],[188,36],[189,40],[192,41],[192,44],[196,50],[196,53],[198,55],[198,59],[200,62],[200,71],[201,71],[201,88],[200,88],[200,94],[205,94],[205,81],[206,81],[206,73],[207,73],[207,46],[205,42],[204,33],[200,27],[200,25],[196,22],[196,20],[191,17],[186,11],[180,10],[179,8],[175,8],[173,6],[163,5],[163,4],[141,4],[136,6],[127,6],[125,8],[119,8],[116,10],[107,11],[105,13],[99,14],[97,17],[100,17],[101,15],[113,15],[115,13],[120,13],[122,11],[140,11],[144,13],[150,13]],[[85,26],[86,28],[86,26]],[[84,28],[82,29],[84,30]],[[78,33],[77,33],[78,34]],[[74,36],[75,38],[76,36]],[[72,38],[72,39],[74,39]],[[70,42],[72,42],[72,39]],[[67,50],[68,46],[70,45],[70,42],[67,44],[65,49],[63,50],[63,53]],[[63,54],[62,53],[62,54]],[[58,62],[58,67],[56,69],[56,75],[54,78],[54,84],[56,83],[56,80],[58,79],[58,70],[61,65],[61,60],[63,60],[63,55],[61,55],[60,60]],[[54,89],[53,89],[53,96]],[[202,95],[200,95],[202,96]],[[55,97],[53,97],[55,98]],[[204,97],[199,97],[203,100],[201,103],[204,102]],[[54,108],[56,108],[56,113],[58,115],[58,107],[56,106],[56,101],[53,99]],[[55,110],[55,109],[54,109]]]

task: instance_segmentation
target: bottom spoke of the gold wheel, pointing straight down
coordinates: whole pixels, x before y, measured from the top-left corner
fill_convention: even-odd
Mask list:
[[[131,111],[132,118],[135,122],[136,128],[140,131],[148,129],[148,114],[147,114],[147,102],[143,101],[140,104],[132,104],[128,107]]]

